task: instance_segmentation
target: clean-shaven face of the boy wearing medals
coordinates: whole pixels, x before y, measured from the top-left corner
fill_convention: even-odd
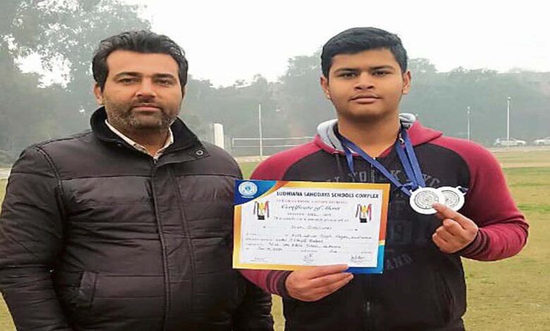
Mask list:
[[[410,72],[401,73],[389,49],[338,54],[321,86],[339,119],[365,122],[398,113],[401,96],[410,89]]]

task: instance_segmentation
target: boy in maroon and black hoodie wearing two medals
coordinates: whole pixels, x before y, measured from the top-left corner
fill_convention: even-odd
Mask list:
[[[528,225],[499,163],[477,144],[400,116],[411,74],[396,35],[374,27],[346,30],[324,45],[321,61],[321,86],[337,120],[319,125],[313,142],[264,161],[252,178],[392,183],[384,273],[321,266],[243,274],[283,296],[286,330],[464,330],[460,258],[507,258],[527,240]],[[465,203],[454,209],[433,204],[431,215],[418,213],[409,195],[429,187],[451,187],[457,200],[465,193]]]

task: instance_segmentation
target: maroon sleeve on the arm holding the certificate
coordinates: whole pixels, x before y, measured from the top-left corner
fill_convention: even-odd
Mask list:
[[[260,163],[252,173],[252,180],[282,180],[286,170],[301,158],[310,155],[319,148],[314,143],[304,144],[293,149],[288,149],[279,154],[271,156]],[[285,282],[290,271],[286,270],[239,270],[247,280],[261,287],[266,292],[288,297]]]

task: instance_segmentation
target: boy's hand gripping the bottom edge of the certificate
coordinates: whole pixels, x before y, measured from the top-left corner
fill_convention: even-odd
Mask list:
[[[345,264],[338,264],[293,271],[286,278],[286,290],[301,301],[323,299],[353,280],[352,273],[344,273],[347,269]]]

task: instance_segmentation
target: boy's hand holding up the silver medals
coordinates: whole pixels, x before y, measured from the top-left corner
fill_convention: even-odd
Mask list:
[[[474,241],[478,227],[473,220],[443,204],[434,204],[433,207],[437,211],[436,216],[443,220],[432,235],[432,240],[441,251],[452,254]]]

